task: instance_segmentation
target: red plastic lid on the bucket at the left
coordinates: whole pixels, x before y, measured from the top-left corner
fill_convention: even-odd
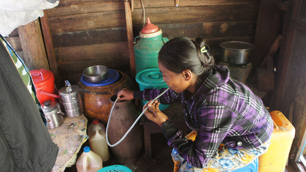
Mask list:
[[[54,82],[54,75],[52,71],[49,71],[47,69],[31,70],[30,73],[35,86],[42,85],[44,83]]]

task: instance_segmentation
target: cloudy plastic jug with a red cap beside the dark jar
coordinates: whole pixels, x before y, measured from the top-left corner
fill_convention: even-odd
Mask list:
[[[91,150],[106,162],[110,158],[110,152],[105,138],[105,126],[98,119],[94,119],[88,126],[87,135]]]

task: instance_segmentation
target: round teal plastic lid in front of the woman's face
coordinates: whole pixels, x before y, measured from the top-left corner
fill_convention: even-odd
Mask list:
[[[161,87],[167,85],[163,80],[163,75],[160,72],[159,68],[149,68],[144,69],[137,73],[136,81],[138,84],[151,87]]]

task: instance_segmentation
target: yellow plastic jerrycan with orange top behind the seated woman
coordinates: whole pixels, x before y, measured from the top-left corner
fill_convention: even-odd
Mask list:
[[[295,129],[282,112],[272,111],[274,130],[268,151],[259,157],[259,172],[285,171]]]

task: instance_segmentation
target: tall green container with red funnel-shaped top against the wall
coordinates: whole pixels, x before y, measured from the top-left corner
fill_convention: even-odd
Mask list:
[[[139,37],[140,39],[137,42]],[[142,28],[139,36],[135,37],[136,73],[148,68],[158,68],[158,53],[167,41],[169,41],[168,38],[162,37],[162,30],[150,23],[149,18],[147,18],[146,26]]]

